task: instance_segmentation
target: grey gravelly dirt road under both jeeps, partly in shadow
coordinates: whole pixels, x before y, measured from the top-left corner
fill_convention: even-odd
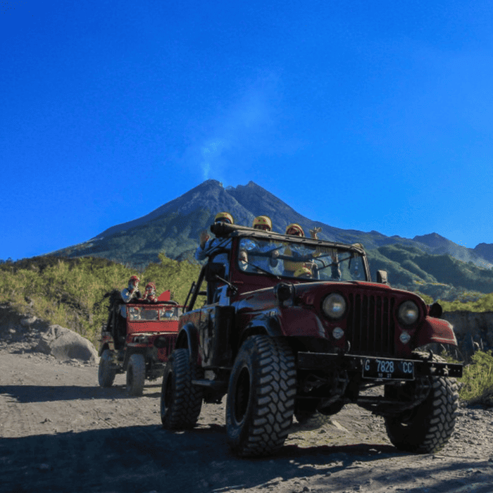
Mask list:
[[[0,344],[1,492],[493,492],[493,412],[463,408],[439,454],[403,454],[381,418],[347,406],[332,424],[293,432],[271,458],[230,454],[224,406],[192,431],[161,428],[160,383],[127,397],[125,376]]]

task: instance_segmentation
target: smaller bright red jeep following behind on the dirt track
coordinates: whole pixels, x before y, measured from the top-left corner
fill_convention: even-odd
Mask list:
[[[111,387],[116,373],[127,372],[127,392],[142,395],[144,380],[161,377],[168,356],[175,349],[182,306],[170,301],[170,292],[166,291],[157,303],[128,303],[127,318],[119,321],[123,302],[119,292],[114,293],[114,298],[101,333],[99,385]]]

